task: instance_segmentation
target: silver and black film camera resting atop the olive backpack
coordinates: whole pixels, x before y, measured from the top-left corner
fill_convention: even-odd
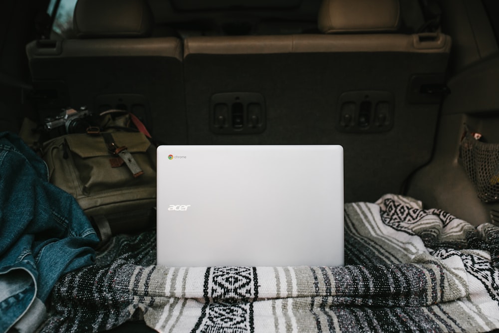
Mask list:
[[[44,129],[50,137],[64,134],[85,133],[92,126],[91,113],[86,107],[78,111],[68,108],[59,115],[45,119]]]

